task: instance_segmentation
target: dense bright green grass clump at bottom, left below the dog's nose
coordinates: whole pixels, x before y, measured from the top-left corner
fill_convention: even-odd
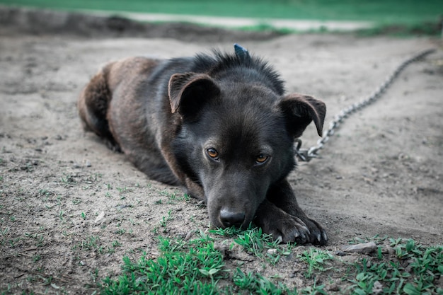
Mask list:
[[[217,283],[227,276],[209,236],[188,243],[161,238],[160,250],[156,260],[123,258],[122,274],[103,279],[101,294],[216,294]]]

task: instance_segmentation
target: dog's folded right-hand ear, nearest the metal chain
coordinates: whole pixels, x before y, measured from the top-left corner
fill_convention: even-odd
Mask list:
[[[317,127],[318,135],[323,135],[326,105],[321,100],[299,93],[285,96],[280,102],[280,108],[287,119],[287,127],[294,138],[301,137],[304,129],[311,123]]]

